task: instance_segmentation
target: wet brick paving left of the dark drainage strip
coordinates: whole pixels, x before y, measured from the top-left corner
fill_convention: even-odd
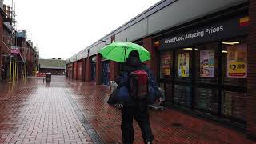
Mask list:
[[[65,96],[63,82],[46,86],[42,79],[29,79],[0,85],[0,142],[92,143]]]

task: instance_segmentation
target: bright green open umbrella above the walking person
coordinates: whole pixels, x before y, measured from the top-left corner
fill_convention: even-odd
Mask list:
[[[150,60],[150,52],[143,46],[132,42],[113,42],[100,50],[100,54],[106,59],[115,62],[125,62],[131,51],[137,50],[142,62]]]

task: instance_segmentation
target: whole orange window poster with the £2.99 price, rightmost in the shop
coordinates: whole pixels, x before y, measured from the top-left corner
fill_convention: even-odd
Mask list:
[[[247,45],[235,45],[227,47],[227,77],[247,77]]]

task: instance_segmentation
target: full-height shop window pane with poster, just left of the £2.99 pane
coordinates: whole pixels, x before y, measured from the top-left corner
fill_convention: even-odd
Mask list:
[[[194,107],[217,114],[218,42],[196,46],[194,53]]]

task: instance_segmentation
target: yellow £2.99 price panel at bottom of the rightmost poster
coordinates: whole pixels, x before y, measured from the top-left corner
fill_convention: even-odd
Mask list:
[[[230,62],[228,74],[230,77],[246,77],[246,63],[245,62]]]

